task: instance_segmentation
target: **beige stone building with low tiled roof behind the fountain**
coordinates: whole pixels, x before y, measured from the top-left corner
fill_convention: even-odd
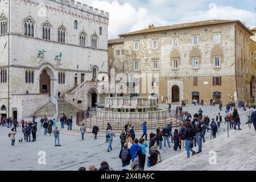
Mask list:
[[[254,101],[255,34],[240,20],[150,26],[109,40],[109,69],[158,73],[159,103]]]

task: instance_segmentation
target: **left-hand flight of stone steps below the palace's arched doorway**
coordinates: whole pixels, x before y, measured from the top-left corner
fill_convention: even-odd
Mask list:
[[[38,118],[46,115],[47,117],[53,117],[56,114],[56,106],[51,102],[47,102],[46,105],[42,106],[40,109],[31,114],[30,117],[36,115]]]

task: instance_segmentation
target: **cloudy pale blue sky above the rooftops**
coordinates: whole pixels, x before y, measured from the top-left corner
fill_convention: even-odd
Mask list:
[[[255,0],[79,0],[110,13],[109,39],[155,26],[207,19],[239,19],[256,27]]]

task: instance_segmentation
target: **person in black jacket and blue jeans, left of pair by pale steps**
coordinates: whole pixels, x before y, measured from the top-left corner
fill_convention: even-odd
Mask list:
[[[192,127],[191,122],[187,122],[186,129],[184,131],[184,138],[185,138],[185,148],[187,151],[187,158],[189,158],[190,151],[192,155],[195,155],[196,152],[192,149],[193,147],[193,138],[196,135],[195,129]]]

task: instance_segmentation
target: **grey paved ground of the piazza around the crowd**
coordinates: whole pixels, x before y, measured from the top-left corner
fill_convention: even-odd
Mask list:
[[[160,105],[162,108],[167,108],[167,105]],[[174,109],[174,105],[172,109]],[[189,111],[191,114],[195,114],[201,106],[188,105],[184,110]],[[202,106],[203,115],[209,115],[210,118],[216,118],[218,114],[218,106]],[[242,125],[247,121],[246,113],[249,111],[240,111]],[[225,111],[221,111],[222,117],[224,119]],[[57,124],[59,125],[59,123]],[[224,122],[222,122],[222,129],[224,128]],[[226,126],[225,126],[226,128]],[[114,170],[121,170],[121,160],[118,158],[119,151],[121,149],[121,144],[119,143],[119,136],[115,137],[113,140],[113,151],[107,152],[107,143],[105,142],[104,134],[100,134],[98,140],[94,140],[92,134],[86,134],[84,141],[81,140],[79,133],[67,134],[67,132],[60,133],[60,143],[61,147],[54,146],[54,137],[44,137],[43,130],[38,128],[36,133],[36,142],[28,143],[18,143],[18,140],[23,138],[23,133],[21,127],[18,128],[18,134],[16,134],[15,148],[11,148],[11,141],[7,137],[9,129],[6,127],[0,127],[0,170],[77,170],[81,166],[85,166],[88,169],[89,164],[94,164],[97,168],[100,167],[100,163],[106,160],[110,167]],[[66,130],[66,129],[65,129]],[[149,134],[149,133],[148,133]],[[225,134],[226,131],[220,131],[217,134]],[[118,135],[118,134],[117,134]],[[141,137],[141,133],[137,135]],[[209,141],[210,132],[206,133],[205,139]],[[32,137],[31,137],[32,138]],[[172,144],[173,145],[173,144]],[[173,146],[172,146],[173,147]],[[203,144],[204,150],[204,144]],[[46,165],[38,164],[38,152],[46,152]],[[148,152],[148,148],[147,148]],[[175,153],[173,150],[162,150],[161,152],[162,160],[171,158],[172,156],[179,154]],[[3,157],[4,156],[4,157]],[[185,156],[185,155],[184,155]]]

